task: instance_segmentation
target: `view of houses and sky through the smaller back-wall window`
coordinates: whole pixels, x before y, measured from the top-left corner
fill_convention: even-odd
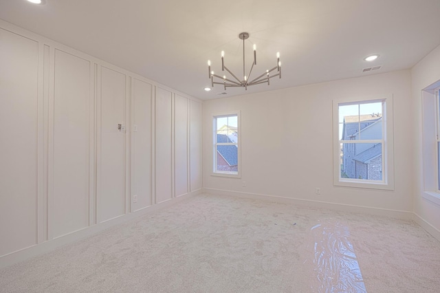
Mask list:
[[[223,125],[217,130],[217,143],[237,143],[237,128]],[[217,145],[217,170],[238,171],[238,151],[236,144]]]

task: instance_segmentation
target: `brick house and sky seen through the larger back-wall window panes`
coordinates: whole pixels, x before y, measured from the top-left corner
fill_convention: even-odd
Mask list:
[[[381,113],[344,117],[342,140],[381,139]],[[341,177],[382,180],[382,144],[344,143]]]

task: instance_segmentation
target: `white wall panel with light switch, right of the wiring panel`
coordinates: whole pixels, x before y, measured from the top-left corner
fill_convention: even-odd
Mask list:
[[[131,90],[131,211],[153,204],[152,175],[152,85],[133,78]]]

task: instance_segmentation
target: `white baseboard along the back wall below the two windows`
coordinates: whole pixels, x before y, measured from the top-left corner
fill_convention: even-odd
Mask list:
[[[311,208],[327,208],[329,210],[338,210],[348,213],[363,213],[368,215],[377,215],[382,217],[392,217],[396,219],[413,219],[414,213],[405,210],[389,210],[386,208],[371,208],[369,206],[354,206],[350,204],[335,204],[332,202],[321,202],[309,199],[297,199],[292,197],[280,197],[274,195],[263,195],[258,193],[243,193],[238,191],[225,191],[216,188],[203,188],[203,193],[214,195],[230,195],[248,199],[260,199],[270,202],[279,202],[282,204],[295,204],[297,206],[307,206]]]

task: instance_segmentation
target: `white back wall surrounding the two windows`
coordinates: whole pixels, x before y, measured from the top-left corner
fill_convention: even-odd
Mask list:
[[[410,84],[410,71],[404,70],[203,102],[203,188],[412,217]],[[375,94],[393,94],[394,191],[333,186],[332,100]],[[212,113],[236,110],[241,110],[241,179],[212,176]]]

